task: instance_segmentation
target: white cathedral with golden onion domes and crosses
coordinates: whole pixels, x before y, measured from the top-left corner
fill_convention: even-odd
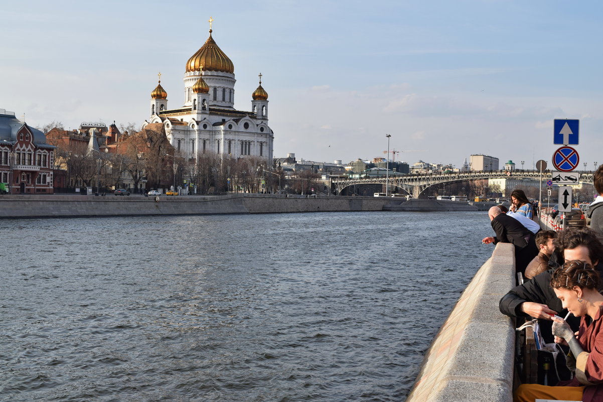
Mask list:
[[[150,118],[142,124],[161,123],[177,153],[196,158],[214,153],[221,158],[273,159],[274,133],[268,126],[268,94],[262,74],[251,95],[251,111],[236,110],[235,67],[209,37],[186,62],[184,105],[168,109],[168,94],[161,86],[151,92]],[[159,78],[161,75],[159,74]]]

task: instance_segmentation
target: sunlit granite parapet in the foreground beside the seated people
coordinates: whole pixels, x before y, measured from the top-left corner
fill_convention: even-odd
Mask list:
[[[513,244],[498,243],[425,354],[406,402],[510,402],[513,320],[498,310],[514,286]]]

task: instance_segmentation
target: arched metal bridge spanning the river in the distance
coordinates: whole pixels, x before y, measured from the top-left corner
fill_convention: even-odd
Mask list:
[[[557,174],[557,172],[555,172]],[[563,172],[561,172],[563,175]],[[473,180],[487,179],[540,179],[548,180],[551,177],[551,171],[545,170],[542,173],[538,170],[497,170],[497,171],[467,171],[461,173],[430,173],[430,174],[405,174],[403,176],[391,177],[367,177],[365,179],[343,179],[333,180],[333,186],[337,194],[340,194],[346,187],[363,184],[389,184],[402,188],[412,197],[418,198],[429,187],[442,183],[470,182]],[[593,183],[593,172],[580,173],[580,183]]]

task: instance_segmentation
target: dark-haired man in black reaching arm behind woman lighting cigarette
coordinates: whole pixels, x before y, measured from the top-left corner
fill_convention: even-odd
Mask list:
[[[599,275],[603,273],[603,244],[592,230],[565,229],[557,234],[553,244],[566,261],[586,261],[598,270]],[[510,317],[531,316],[545,320],[551,320],[551,314],[563,313],[564,308],[549,284],[552,273],[552,269],[546,270],[511,289],[500,299],[500,312]]]

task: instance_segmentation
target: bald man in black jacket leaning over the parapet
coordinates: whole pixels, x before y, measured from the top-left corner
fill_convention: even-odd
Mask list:
[[[490,224],[496,236],[484,237],[482,243],[513,244],[515,246],[515,271],[523,273],[529,262],[538,255],[534,234],[518,220],[503,214],[497,206],[493,206],[488,210],[488,217],[490,217]]]

